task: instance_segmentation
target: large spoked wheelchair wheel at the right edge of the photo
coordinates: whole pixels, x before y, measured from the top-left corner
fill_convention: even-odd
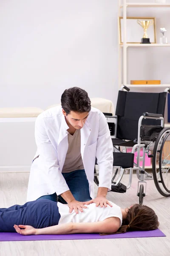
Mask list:
[[[170,196],[170,128],[164,128],[153,148],[153,179],[159,193]]]

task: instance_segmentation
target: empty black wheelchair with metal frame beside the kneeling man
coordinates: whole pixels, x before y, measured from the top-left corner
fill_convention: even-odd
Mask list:
[[[118,94],[116,115],[104,113],[113,143],[111,191],[125,193],[131,186],[133,170],[136,170],[139,179],[137,196],[140,205],[147,195],[146,180],[154,180],[159,193],[164,197],[170,196],[170,127],[164,128],[164,109],[168,92],[170,93],[170,88],[162,93],[130,92],[130,89],[123,85]],[[132,148],[129,153],[128,147]],[[140,166],[141,149],[142,166]],[[145,170],[145,154],[152,158],[152,173]],[[120,182],[125,169],[130,169],[127,186]],[[96,159],[94,182],[97,185],[99,185],[98,176]]]

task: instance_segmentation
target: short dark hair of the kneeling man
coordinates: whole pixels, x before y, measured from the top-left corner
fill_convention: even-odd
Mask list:
[[[91,111],[91,100],[88,93],[79,87],[66,89],[61,96],[61,105],[67,115],[71,111],[79,113]]]

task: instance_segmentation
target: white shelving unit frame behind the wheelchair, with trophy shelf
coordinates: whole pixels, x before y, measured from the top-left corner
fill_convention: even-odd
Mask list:
[[[169,3],[127,3],[127,0],[119,0],[119,17],[123,16],[123,24],[124,24],[124,30],[123,30],[123,44],[119,44],[119,88],[122,84],[127,85],[128,87],[170,87],[170,84],[154,84],[154,85],[148,85],[148,84],[127,84],[127,48],[128,47],[170,47],[170,44],[129,44],[127,43],[127,8],[130,7],[170,7]],[[123,12],[123,15],[122,15]],[[123,77],[122,77],[122,64],[121,64],[121,56],[123,53]]]

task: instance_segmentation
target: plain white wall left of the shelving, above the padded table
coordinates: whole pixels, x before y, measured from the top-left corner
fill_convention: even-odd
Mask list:
[[[73,86],[117,99],[117,0],[1,0],[0,107],[45,109]]]

